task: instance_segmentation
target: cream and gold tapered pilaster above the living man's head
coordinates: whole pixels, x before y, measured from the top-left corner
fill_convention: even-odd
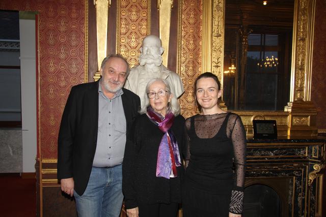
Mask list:
[[[111,0],[94,0],[94,5],[96,8],[97,72],[93,78],[96,81],[100,78],[101,63],[107,54],[108,8],[111,6]]]

